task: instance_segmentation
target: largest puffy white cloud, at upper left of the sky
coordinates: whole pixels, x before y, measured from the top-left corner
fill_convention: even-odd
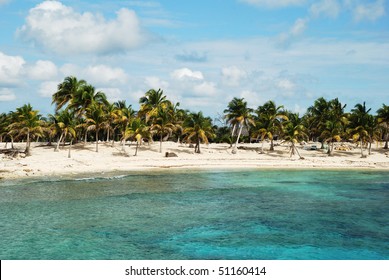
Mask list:
[[[148,40],[132,10],[122,8],[116,18],[107,20],[99,14],[78,13],[59,1],[32,8],[17,33],[58,54],[124,52]]]

